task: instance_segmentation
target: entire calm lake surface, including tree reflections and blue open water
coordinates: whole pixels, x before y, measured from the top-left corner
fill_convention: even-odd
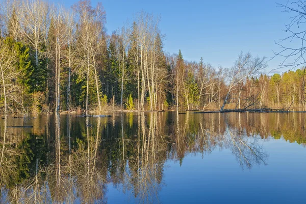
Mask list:
[[[6,126],[33,125],[33,128]],[[0,203],[306,203],[304,113],[0,119]]]

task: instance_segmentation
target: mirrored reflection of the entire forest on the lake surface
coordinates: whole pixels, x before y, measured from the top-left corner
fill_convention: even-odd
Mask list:
[[[299,113],[4,118],[0,202],[106,203],[109,183],[137,202],[159,202],[167,161],[184,165],[187,155],[230,149],[243,169],[267,165],[262,141],[273,137],[304,146],[305,122]]]

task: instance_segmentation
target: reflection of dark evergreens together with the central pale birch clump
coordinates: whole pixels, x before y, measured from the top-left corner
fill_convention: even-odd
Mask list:
[[[161,189],[165,159],[161,158],[164,155],[160,152],[166,152],[167,144],[161,141],[157,114],[150,113],[146,118],[144,113],[140,113],[135,128],[123,122],[124,119],[130,120],[131,116],[121,116],[120,123],[115,125],[121,138],[117,138],[113,148],[107,152],[111,158],[111,181],[124,192],[131,192],[138,202],[158,201]]]

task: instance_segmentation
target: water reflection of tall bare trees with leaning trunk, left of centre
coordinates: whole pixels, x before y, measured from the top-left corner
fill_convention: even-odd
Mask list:
[[[98,117],[96,134],[94,134],[89,118],[86,118],[86,141],[79,141],[79,148],[72,156],[73,174],[77,177],[75,185],[82,203],[104,201],[107,173],[103,161],[98,159],[98,147],[101,140],[100,123],[101,118]]]

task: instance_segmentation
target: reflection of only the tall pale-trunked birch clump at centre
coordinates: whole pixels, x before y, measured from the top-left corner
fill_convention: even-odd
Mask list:
[[[128,160],[129,170],[125,170],[123,188],[131,191],[141,203],[157,202],[162,184],[164,160],[161,160],[160,152],[165,151],[166,146],[161,142],[157,114],[150,113],[148,124],[145,123],[144,114],[138,116],[137,151],[135,157]]]

